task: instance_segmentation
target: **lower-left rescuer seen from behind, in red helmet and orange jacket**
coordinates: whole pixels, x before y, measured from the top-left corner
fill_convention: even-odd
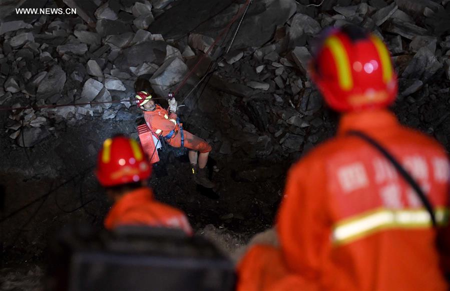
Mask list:
[[[153,198],[147,179],[152,166],[141,145],[132,138],[116,136],[103,143],[97,160],[97,178],[114,201],[105,218],[107,229],[120,225],[171,227],[192,234],[186,215]]]

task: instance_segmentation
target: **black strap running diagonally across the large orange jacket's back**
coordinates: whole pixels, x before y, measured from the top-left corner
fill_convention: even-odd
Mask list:
[[[426,197],[425,193],[423,193],[420,186],[417,184],[417,182],[414,180],[413,177],[401,166],[401,164],[387,151],[386,148],[384,148],[381,144],[379,144],[376,140],[374,140],[372,137],[368,136],[367,134],[359,131],[359,130],[349,130],[347,131],[347,135],[357,136],[375,147],[379,152],[381,152],[395,167],[395,169],[401,174],[401,176],[406,180],[406,182],[411,185],[411,187],[415,190],[417,193],[417,196],[419,196],[420,200],[422,201],[423,206],[425,206],[426,210],[428,211],[431,221],[433,223],[433,226],[436,226],[436,218],[434,217],[434,211],[433,207],[431,205],[431,202]]]

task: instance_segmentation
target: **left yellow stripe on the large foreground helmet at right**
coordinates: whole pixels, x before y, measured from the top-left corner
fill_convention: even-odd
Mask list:
[[[350,61],[344,45],[337,36],[330,36],[325,40],[325,45],[331,50],[338,72],[339,86],[344,90],[353,87],[353,79],[350,71]]]

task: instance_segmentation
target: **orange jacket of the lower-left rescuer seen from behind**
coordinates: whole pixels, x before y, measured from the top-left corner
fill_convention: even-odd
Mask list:
[[[186,215],[174,207],[154,200],[152,190],[148,187],[124,194],[114,203],[105,218],[105,228],[109,230],[127,224],[180,228],[187,234],[192,234]]]

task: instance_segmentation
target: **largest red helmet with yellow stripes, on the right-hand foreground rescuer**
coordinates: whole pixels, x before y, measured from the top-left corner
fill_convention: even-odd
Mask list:
[[[337,111],[383,108],[397,95],[397,76],[386,45],[356,26],[327,30],[309,72]]]

